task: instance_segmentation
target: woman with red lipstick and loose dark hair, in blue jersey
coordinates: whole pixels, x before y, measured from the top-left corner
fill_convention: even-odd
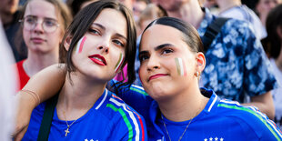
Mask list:
[[[113,0],[87,5],[75,16],[62,40],[65,84],[53,97],[57,103],[47,129],[49,140],[146,140],[143,117],[106,89],[126,63],[134,68],[134,22],[126,6]],[[134,76],[130,74],[129,83]],[[40,124],[48,107],[48,102],[35,107],[23,140],[41,140]]]

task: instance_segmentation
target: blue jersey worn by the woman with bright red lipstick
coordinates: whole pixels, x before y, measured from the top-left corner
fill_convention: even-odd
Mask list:
[[[36,140],[45,111],[45,103],[37,106],[23,140]],[[142,116],[127,106],[119,97],[105,90],[104,94],[89,109],[86,115],[75,122],[67,121],[69,133],[65,136],[65,120],[58,119],[55,109],[49,140],[106,141],[147,140],[146,124]]]

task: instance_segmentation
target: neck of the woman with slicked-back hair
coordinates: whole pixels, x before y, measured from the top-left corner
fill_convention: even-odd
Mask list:
[[[158,102],[158,106],[167,119],[181,122],[197,116],[205,108],[207,101],[208,98],[201,94],[199,88],[194,88],[169,100]]]

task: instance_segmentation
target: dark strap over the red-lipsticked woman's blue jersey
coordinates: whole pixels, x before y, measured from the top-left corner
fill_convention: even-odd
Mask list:
[[[57,94],[46,101],[45,111],[42,117],[37,141],[48,140],[58,96],[59,95]]]

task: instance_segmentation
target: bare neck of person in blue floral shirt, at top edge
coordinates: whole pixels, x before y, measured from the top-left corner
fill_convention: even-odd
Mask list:
[[[186,2],[177,11],[167,11],[167,14],[172,17],[180,18],[185,22],[194,25],[198,28],[205,16],[198,2]]]

